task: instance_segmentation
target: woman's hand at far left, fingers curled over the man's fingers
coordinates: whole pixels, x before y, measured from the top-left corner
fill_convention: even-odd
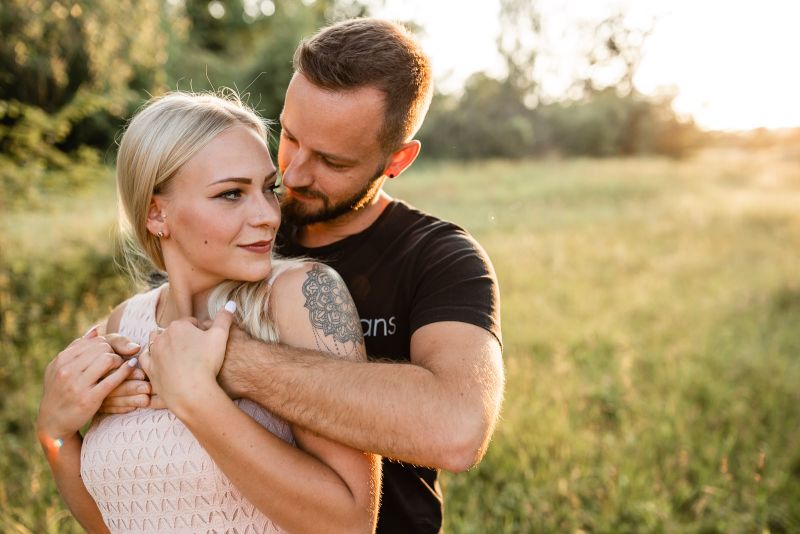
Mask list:
[[[117,354],[135,354],[139,346],[124,346],[97,335],[92,328],[61,351],[45,369],[44,394],[36,427],[42,443],[74,435],[97,413],[103,399],[133,371],[136,358],[125,362]]]

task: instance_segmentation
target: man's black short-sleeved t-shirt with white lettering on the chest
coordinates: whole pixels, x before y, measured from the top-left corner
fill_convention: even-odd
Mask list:
[[[408,361],[411,335],[459,321],[500,334],[500,295],[486,252],[462,228],[392,201],[363,232],[317,248],[300,246],[284,224],[278,252],[330,265],[353,295],[370,358]],[[438,470],[383,462],[378,532],[439,532]]]

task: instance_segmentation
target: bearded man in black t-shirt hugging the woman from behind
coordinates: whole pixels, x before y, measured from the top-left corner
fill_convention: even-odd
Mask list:
[[[383,464],[378,532],[439,532],[437,469],[463,471],[483,457],[504,375],[485,252],[382,189],[419,154],[412,138],[430,103],[429,60],[403,28],[356,19],[301,43],[294,68],[280,117],[278,250],[341,274],[373,361],[266,345],[234,329],[220,382],[233,397],[397,460]],[[335,289],[326,283],[306,281],[317,295]],[[335,295],[325,308],[316,324],[346,340]],[[135,383],[106,406],[124,405]]]

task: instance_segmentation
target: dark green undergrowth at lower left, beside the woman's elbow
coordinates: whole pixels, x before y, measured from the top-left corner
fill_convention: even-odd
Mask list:
[[[8,251],[14,240],[3,241],[0,249]],[[129,292],[107,247],[68,241],[59,243],[57,254],[0,258],[3,532],[80,532],[61,503],[34,432],[42,376],[51,358]]]

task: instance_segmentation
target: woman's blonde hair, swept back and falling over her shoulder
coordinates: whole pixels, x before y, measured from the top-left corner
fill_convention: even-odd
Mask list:
[[[128,123],[117,153],[117,197],[123,257],[135,282],[153,268],[165,271],[158,237],[147,230],[153,195],[167,193],[172,179],[197,152],[236,126],[252,128],[266,141],[267,122],[238,95],[176,91],[152,98]],[[214,316],[227,300],[237,304],[237,323],[251,336],[277,341],[268,315],[270,280],[294,260],[273,260],[269,280],[226,281],[212,291],[209,313]]]

